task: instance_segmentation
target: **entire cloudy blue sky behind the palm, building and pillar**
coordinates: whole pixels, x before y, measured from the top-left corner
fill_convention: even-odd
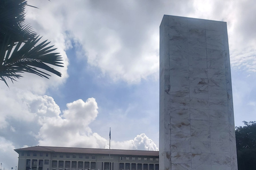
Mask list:
[[[235,125],[255,121],[254,0],[29,0],[26,23],[63,57],[48,79],[0,82],[0,163],[30,146],[158,150],[163,15],[228,25]]]

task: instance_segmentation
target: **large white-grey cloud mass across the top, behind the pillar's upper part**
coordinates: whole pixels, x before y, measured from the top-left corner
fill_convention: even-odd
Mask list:
[[[29,8],[27,20],[65,58],[64,50],[72,47],[73,39],[82,45],[78,53],[114,81],[158,78],[158,27],[164,14],[227,21],[231,63],[237,69],[246,63],[246,70],[256,70],[254,55],[243,57],[256,50],[253,0],[29,2],[40,10]]]

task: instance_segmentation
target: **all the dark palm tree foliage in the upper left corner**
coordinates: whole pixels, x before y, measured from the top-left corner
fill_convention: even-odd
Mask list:
[[[42,37],[24,22],[26,6],[30,5],[25,0],[0,0],[0,80],[7,86],[7,79],[17,81],[23,72],[61,77],[51,66],[63,67],[62,57],[47,40],[39,43]]]

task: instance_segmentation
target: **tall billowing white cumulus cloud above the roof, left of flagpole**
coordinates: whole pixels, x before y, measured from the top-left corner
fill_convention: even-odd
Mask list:
[[[84,141],[88,141],[87,145],[95,147],[95,142],[88,140],[88,135],[92,133],[89,124],[98,115],[95,99],[89,98],[86,102],[79,99],[67,104],[67,107],[62,115],[40,117],[42,127],[37,135],[39,145],[81,146]]]

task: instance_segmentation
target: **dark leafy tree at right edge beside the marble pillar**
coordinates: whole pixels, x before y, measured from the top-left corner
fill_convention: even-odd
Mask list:
[[[239,170],[256,169],[256,122],[236,127],[236,149]]]

